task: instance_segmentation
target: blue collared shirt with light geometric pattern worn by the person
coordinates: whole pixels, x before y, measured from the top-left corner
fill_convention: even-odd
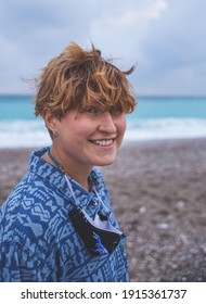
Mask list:
[[[0,281],[128,281],[124,240],[112,254],[93,256],[73,227],[74,200],[64,175],[43,161],[46,149],[30,156],[29,172],[0,208]],[[96,194],[69,179],[79,206],[93,217],[111,211],[100,172],[90,180]],[[112,213],[112,224],[118,228]]]

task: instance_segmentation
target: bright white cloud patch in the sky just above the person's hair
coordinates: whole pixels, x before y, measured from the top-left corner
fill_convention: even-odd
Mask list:
[[[139,49],[138,46],[145,36],[150,22],[159,18],[162,12],[167,9],[167,2],[124,1],[121,5],[116,2],[115,13],[114,10],[103,11],[92,20],[90,33],[100,46],[106,43],[111,51],[118,50],[119,54],[131,56],[132,50]]]

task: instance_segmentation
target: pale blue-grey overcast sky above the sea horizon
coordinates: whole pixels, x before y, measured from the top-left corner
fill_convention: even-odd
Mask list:
[[[206,94],[205,0],[0,0],[0,93],[33,78],[72,40],[94,46],[139,94]]]

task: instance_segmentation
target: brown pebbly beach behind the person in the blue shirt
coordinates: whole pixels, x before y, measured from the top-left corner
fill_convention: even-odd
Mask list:
[[[30,149],[0,150],[0,204]],[[124,144],[102,169],[127,235],[131,281],[206,281],[206,139]]]

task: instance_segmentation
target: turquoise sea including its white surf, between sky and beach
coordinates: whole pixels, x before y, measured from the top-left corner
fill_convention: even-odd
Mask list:
[[[206,97],[138,97],[125,141],[206,137]],[[50,144],[31,96],[0,96],[0,148]]]

